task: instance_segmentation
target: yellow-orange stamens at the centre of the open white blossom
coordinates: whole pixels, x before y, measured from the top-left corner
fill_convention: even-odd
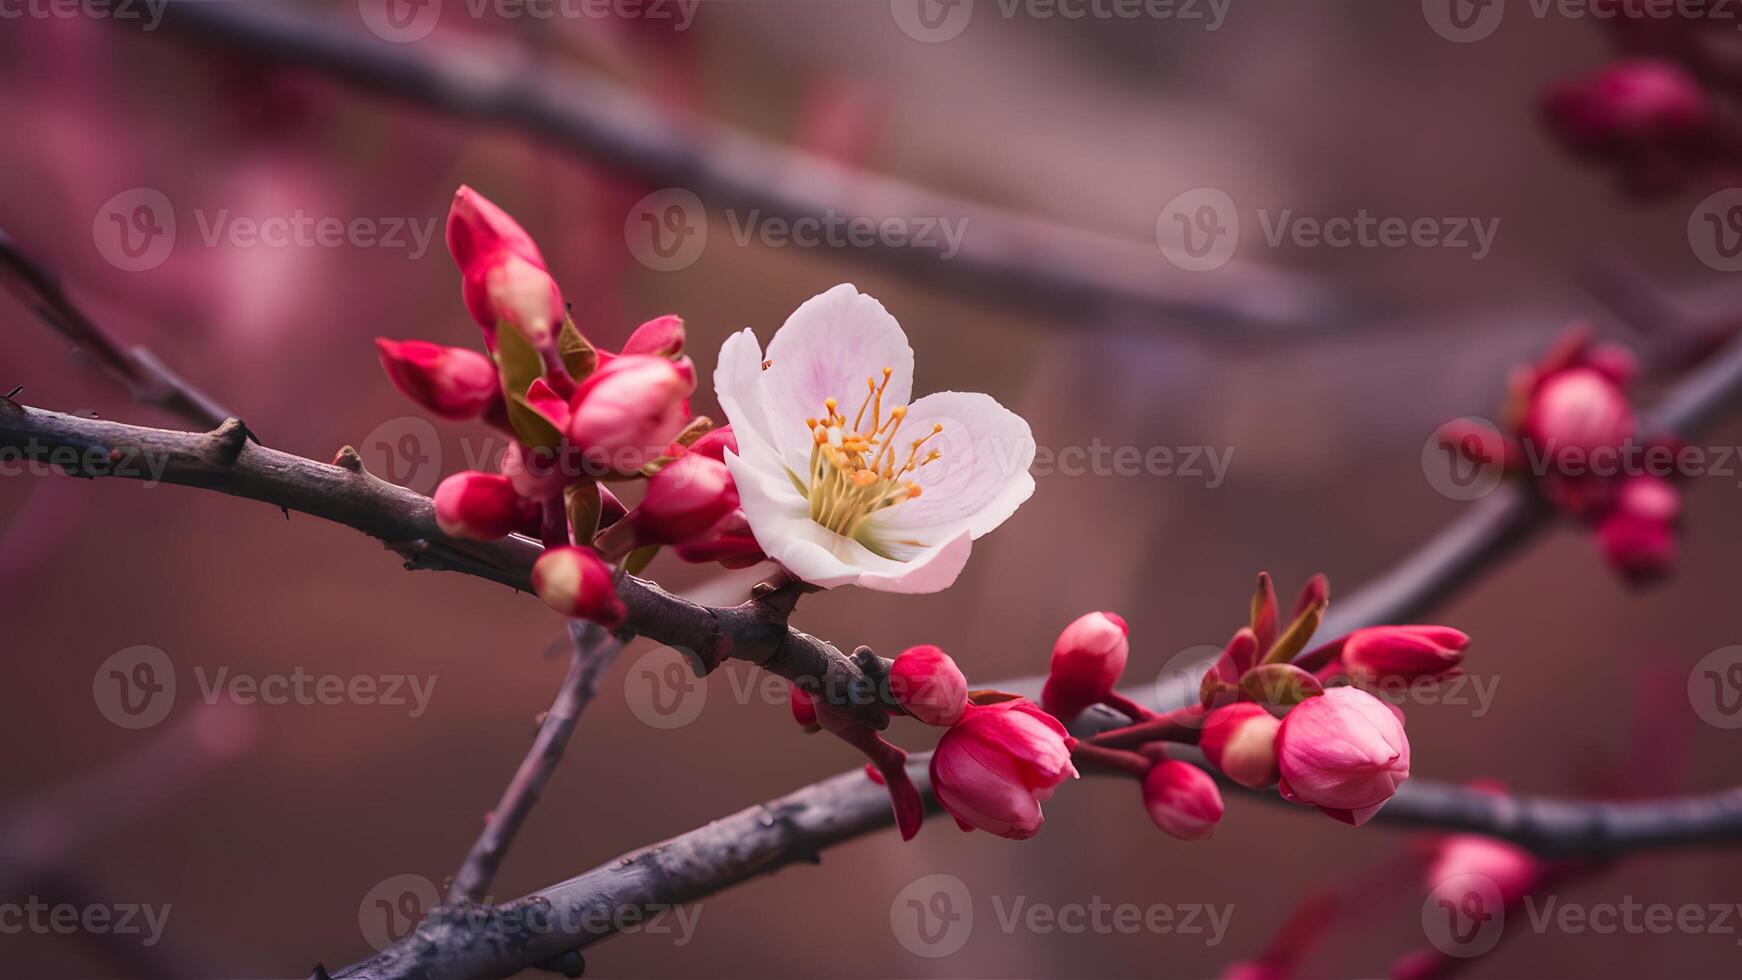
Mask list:
[[[922,456],[925,444],[944,430],[939,423],[920,439],[906,444],[897,439],[908,407],[895,406],[885,414],[883,392],[892,373],[894,369],[885,367],[881,383],[866,378],[866,400],[861,402],[850,426],[834,399],[822,402],[826,409],[822,418],[805,420],[812,435],[810,473],[803,480],[796,475],[793,479],[810,501],[812,520],[861,543],[866,543],[862,536],[866,520],[880,510],[920,496],[920,484],[909,477],[942,456],[937,449]]]

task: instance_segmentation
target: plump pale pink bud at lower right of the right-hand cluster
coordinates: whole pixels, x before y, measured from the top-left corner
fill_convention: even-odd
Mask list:
[[[1359,827],[1409,778],[1409,738],[1385,701],[1331,688],[1282,717],[1277,769],[1284,799]]]

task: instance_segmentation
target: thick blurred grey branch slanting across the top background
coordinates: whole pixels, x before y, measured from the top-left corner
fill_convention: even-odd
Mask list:
[[[1326,285],[1254,263],[1179,272],[1132,242],[932,193],[841,167],[737,129],[676,118],[604,78],[557,71],[484,40],[380,40],[268,3],[174,0],[162,30],[233,57],[319,71],[366,92],[510,127],[650,188],[716,211],[786,221],[953,218],[967,233],[948,261],[878,242],[864,256],[951,291],[1068,317],[1071,327],[1192,327],[1212,338],[1317,336],[1338,319]]]

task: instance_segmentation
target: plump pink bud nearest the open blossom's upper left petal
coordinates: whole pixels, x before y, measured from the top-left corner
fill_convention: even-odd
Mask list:
[[[683,432],[693,390],[664,357],[618,357],[575,392],[568,439],[589,467],[632,475]]]

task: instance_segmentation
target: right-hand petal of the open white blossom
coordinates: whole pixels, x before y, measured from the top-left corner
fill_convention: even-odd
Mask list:
[[[937,392],[915,402],[897,435],[908,446],[932,430],[920,451],[942,451],[942,458],[918,470],[920,496],[906,500],[873,520],[878,545],[892,555],[934,545],[967,531],[979,538],[1003,524],[1035,493],[1035,435],[1023,416],[976,392]]]

